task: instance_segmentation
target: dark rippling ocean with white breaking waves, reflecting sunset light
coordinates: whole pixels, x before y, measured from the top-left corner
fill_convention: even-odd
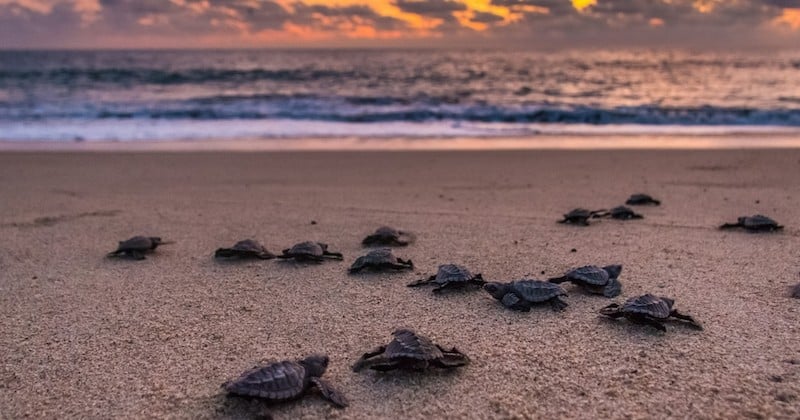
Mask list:
[[[800,52],[5,51],[0,140],[800,133]]]

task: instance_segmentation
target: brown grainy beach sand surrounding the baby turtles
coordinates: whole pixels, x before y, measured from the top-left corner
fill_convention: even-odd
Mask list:
[[[798,418],[798,175],[800,150],[0,153],[0,417],[254,416],[265,405],[226,399],[226,379],[324,352],[350,407],[313,395],[276,418]],[[555,223],[634,192],[664,204]],[[787,228],[715,229],[753,213]],[[417,269],[348,276],[382,224],[417,234],[397,251]],[[136,234],[176,243],[104,258]],[[212,259],[248,237],[345,261]],[[500,281],[620,263],[617,301],[669,296],[705,330],[601,319],[610,300],[570,285],[562,313],[405,287],[450,262]],[[350,371],[397,327],[472,363]]]

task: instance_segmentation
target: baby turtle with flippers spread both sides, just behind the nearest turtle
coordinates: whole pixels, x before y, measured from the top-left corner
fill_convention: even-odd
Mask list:
[[[429,338],[409,329],[392,333],[394,339],[364,353],[353,365],[353,372],[372,369],[380,372],[390,370],[425,370],[428,368],[453,369],[469,363],[469,358],[455,347],[450,350],[434,344]]]

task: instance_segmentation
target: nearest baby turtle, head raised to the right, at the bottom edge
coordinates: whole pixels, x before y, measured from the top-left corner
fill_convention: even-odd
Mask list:
[[[223,384],[229,394],[257,397],[267,401],[286,401],[303,396],[316,387],[322,397],[339,408],[347,399],[322,380],[328,368],[328,356],[315,354],[298,361],[283,361],[255,367],[238,379]]]

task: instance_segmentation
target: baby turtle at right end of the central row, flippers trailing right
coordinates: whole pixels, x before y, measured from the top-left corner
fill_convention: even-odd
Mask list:
[[[696,329],[703,329],[691,316],[681,314],[677,310],[672,309],[673,304],[675,304],[675,301],[670,298],[646,294],[632,297],[626,300],[622,306],[612,303],[600,309],[600,313],[611,318],[624,316],[631,322],[649,325],[661,331],[667,330],[663,322],[670,320],[670,318],[680,319],[686,321],[687,325]]]

